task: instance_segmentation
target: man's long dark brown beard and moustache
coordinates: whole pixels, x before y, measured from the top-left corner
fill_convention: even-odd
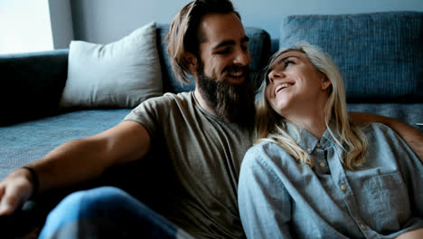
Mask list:
[[[224,80],[225,75],[230,72],[239,72],[240,68],[245,75],[244,82],[230,85]],[[256,113],[254,87],[248,67],[229,66],[223,70],[222,79],[214,79],[205,74],[204,64],[199,61],[197,76],[202,98],[218,116],[243,127],[254,125]]]

